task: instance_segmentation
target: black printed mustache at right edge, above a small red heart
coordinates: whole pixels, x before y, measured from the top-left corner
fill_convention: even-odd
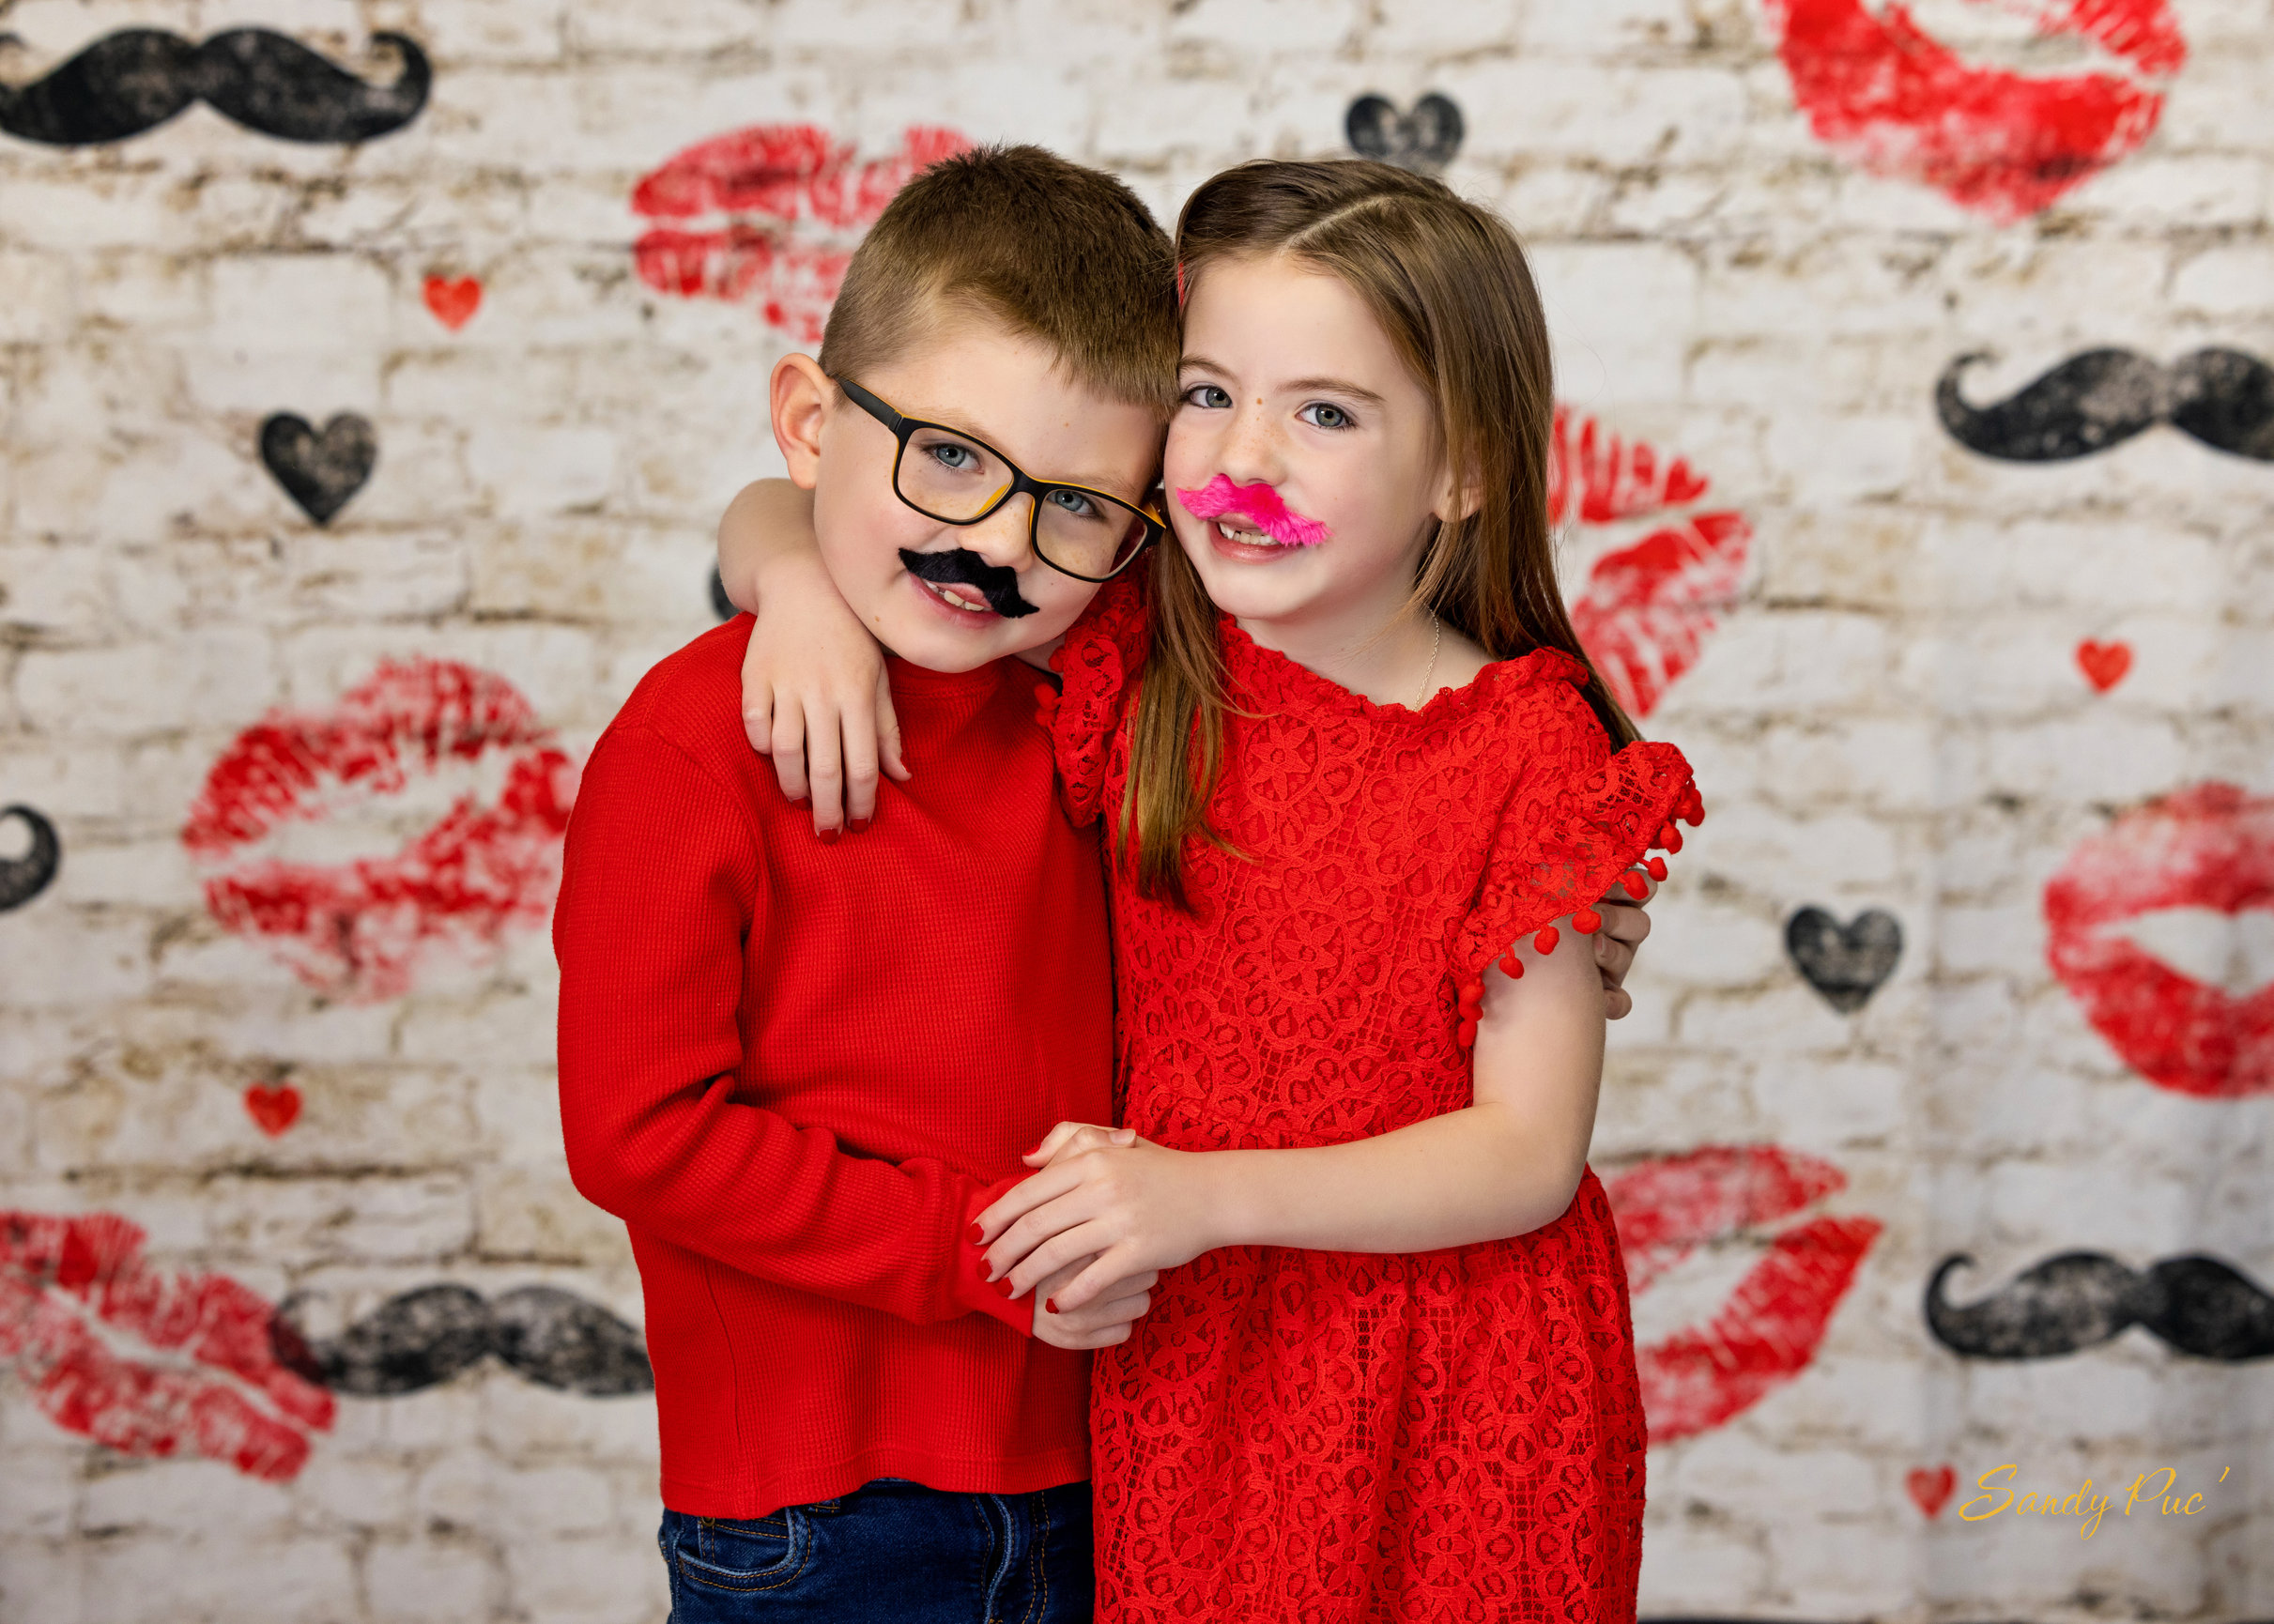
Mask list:
[[[1997,405],[1974,407],[1960,355],[1935,382],[1935,412],[1960,446],[2003,462],[2067,462],[2169,423],[2213,450],[2274,462],[2274,366],[2242,350],[2197,350],[2169,366],[2131,350],[2083,350]]]

